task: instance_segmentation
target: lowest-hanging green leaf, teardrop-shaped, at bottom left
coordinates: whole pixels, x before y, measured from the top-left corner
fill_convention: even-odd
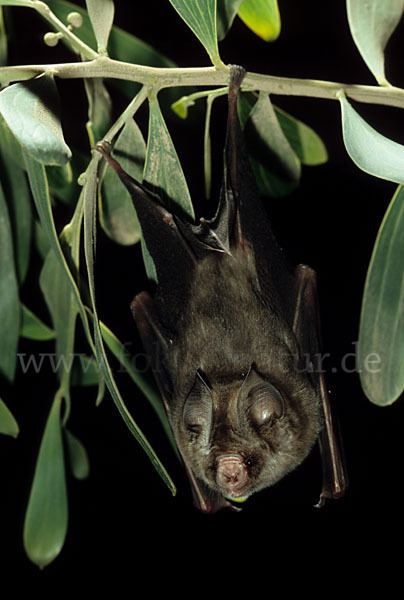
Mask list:
[[[61,435],[62,400],[56,395],[43,434],[24,523],[24,548],[43,568],[61,551],[68,505]]]

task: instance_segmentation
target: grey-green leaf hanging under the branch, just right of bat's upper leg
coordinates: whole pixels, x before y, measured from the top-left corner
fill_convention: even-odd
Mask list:
[[[264,195],[283,196],[291,192],[300,178],[300,161],[287,140],[267,94],[240,98],[240,120],[244,126],[247,149],[254,175]]]

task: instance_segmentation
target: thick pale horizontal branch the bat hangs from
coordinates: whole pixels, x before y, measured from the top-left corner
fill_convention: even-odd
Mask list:
[[[215,67],[147,67],[113,60],[107,56],[98,56],[94,60],[81,63],[1,67],[0,81],[7,83],[21,81],[46,71],[51,71],[62,79],[84,77],[124,79],[153,87],[157,91],[175,86],[222,86],[228,83],[227,69],[216,69]],[[247,73],[243,82],[243,89],[260,90],[274,95],[306,96],[327,100],[336,100],[339,90],[343,90],[347,97],[358,102],[404,108],[404,90],[394,86],[344,84],[333,81]]]

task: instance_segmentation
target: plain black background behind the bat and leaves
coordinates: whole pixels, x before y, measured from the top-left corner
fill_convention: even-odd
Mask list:
[[[140,2],[115,4],[117,25],[149,42],[178,65],[208,64],[203,47],[167,0],[148,0],[143,8]],[[236,21],[220,45],[224,62],[272,75],[374,85],[350,37],[344,2],[281,0],[280,11],[282,32],[273,44],[260,41]],[[15,9],[13,14],[13,35],[21,38],[18,52],[11,56],[14,62],[71,60],[63,47],[41,46],[40,36],[46,26],[33,11]],[[404,86],[403,33],[400,25],[387,49],[387,77],[397,86]],[[59,89],[66,139],[85,147],[81,82],[63,81]],[[46,374],[19,378],[14,392],[10,390],[10,397],[14,396],[10,407],[20,422],[21,433],[17,440],[0,440],[4,573],[12,569],[22,576],[21,581],[43,585],[68,582],[70,576],[82,576],[94,583],[129,577],[135,593],[138,582],[151,569],[149,592],[163,584],[175,593],[189,577],[193,582],[189,593],[193,593],[195,584],[199,587],[206,581],[209,586],[212,578],[218,577],[224,590],[234,590],[234,584],[242,579],[251,586],[254,582],[265,585],[270,593],[272,582],[281,574],[288,590],[295,574],[303,586],[315,585],[319,574],[327,573],[331,587],[339,588],[345,587],[345,577],[351,571],[361,575],[365,569],[367,576],[375,577],[386,572],[387,564],[393,571],[395,542],[403,533],[402,401],[388,408],[373,406],[361,391],[354,357],[347,361],[351,372],[341,369],[341,361],[354,352],[367,265],[396,186],[370,177],[350,161],[343,146],[337,102],[286,97],[274,97],[273,101],[313,127],[329,153],[325,165],[303,168],[296,192],[267,203],[273,228],[288,256],[293,262],[310,264],[318,272],[324,351],[331,355],[328,381],[340,415],[350,479],[346,496],[329,502],[322,510],[313,508],[321,487],[321,467],[314,451],[274,488],[250,498],[240,514],[199,514],[192,506],[182,468],[147,402],[124,375],[118,374],[127,404],[173,476],[178,495],[170,496],[112,400],[106,397],[95,408],[93,392],[77,392],[71,429],[88,450],[91,475],[84,482],[69,476],[65,547],[60,557],[40,572],[24,554],[22,527],[55,382],[51,374],[48,378]],[[124,99],[118,96],[117,110],[124,105]],[[214,131],[220,172],[225,102],[217,105]],[[404,120],[399,109],[365,104],[355,107],[381,133],[404,143]],[[147,113],[141,111],[140,116],[145,119]],[[176,117],[168,120],[196,199],[202,198],[200,122],[192,115],[185,122]],[[66,219],[68,209],[63,210],[66,214],[60,218]],[[147,287],[138,249],[118,247],[100,232],[97,266],[101,317],[136,351],[139,342],[128,305],[136,292]],[[30,351],[29,344],[25,343],[20,351]],[[37,347],[32,351],[37,352]]]

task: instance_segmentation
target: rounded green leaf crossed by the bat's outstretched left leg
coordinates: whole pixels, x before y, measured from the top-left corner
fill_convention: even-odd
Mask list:
[[[122,168],[142,181],[146,144],[142,132],[131,119],[120,133],[112,152]],[[135,244],[141,238],[140,224],[132,198],[111,167],[106,166],[101,189],[100,223],[118,244]]]

